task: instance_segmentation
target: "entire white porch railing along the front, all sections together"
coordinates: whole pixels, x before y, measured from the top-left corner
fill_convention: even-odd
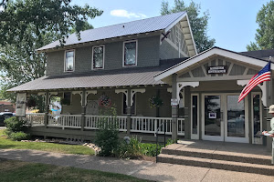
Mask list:
[[[44,125],[44,113],[26,114],[27,123],[32,126]],[[80,115],[48,115],[47,126],[81,128]],[[85,129],[98,129],[99,119],[102,116],[85,116]],[[117,125],[120,131],[127,131],[127,116],[117,116]],[[108,117],[113,122],[113,117]],[[155,133],[156,129],[165,122],[166,135],[172,134],[172,117],[132,116],[131,132]],[[178,118],[178,136],[184,136],[184,118]],[[159,129],[163,134],[163,125]]]

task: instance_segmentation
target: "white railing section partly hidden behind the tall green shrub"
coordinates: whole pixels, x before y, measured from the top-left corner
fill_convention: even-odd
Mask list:
[[[103,116],[85,116],[85,128],[87,129],[98,129],[99,128],[99,120]],[[114,117],[107,117],[108,122],[113,122]],[[119,127],[119,131],[127,130],[127,116],[116,116],[117,125]]]

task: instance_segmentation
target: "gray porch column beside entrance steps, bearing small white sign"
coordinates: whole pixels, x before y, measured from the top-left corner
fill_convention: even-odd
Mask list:
[[[172,92],[172,99],[177,98],[177,82],[176,82],[177,75],[173,75],[173,92]],[[178,106],[172,106],[172,139],[176,140],[178,131],[177,131],[177,117],[178,117]]]

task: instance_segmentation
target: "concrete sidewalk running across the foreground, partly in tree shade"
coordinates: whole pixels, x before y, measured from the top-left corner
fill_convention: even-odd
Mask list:
[[[206,167],[189,167],[142,160],[121,160],[112,157],[94,157],[58,154],[37,150],[0,149],[0,157],[27,162],[52,164],[64,167],[95,169],[120,173],[154,181],[272,181],[274,177],[219,170]],[[1,164],[0,164],[1,165]]]

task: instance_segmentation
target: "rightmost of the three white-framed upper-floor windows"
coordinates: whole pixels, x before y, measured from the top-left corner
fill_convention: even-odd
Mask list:
[[[123,43],[123,66],[137,66],[137,40]]]

